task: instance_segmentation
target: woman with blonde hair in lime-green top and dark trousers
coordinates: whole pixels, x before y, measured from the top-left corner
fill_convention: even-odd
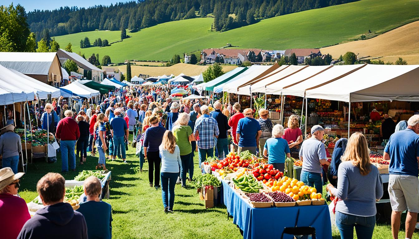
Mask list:
[[[194,134],[189,123],[189,114],[180,113],[178,119],[174,123],[172,128],[173,135],[176,139],[176,144],[180,150],[181,157],[181,180],[182,187],[186,187],[186,172],[188,172],[191,162],[192,146],[191,141],[195,141]],[[191,175],[189,175],[191,177]]]

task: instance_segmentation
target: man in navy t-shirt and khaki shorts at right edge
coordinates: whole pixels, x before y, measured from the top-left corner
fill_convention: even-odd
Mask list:
[[[384,149],[384,159],[390,160],[388,194],[390,195],[391,231],[397,238],[401,213],[406,216],[406,238],[412,238],[419,213],[419,115],[407,121],[405,130],[390,136]]]

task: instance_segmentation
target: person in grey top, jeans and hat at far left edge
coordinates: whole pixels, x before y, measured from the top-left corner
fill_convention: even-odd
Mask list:
[[[3,167],[12,168],[13,172],[18,173],[19,154],[22,153],[21,137],[14,133],[15,126],[9,124],[2,128],[4,132],[0,136],[0,154],[3,156]]]

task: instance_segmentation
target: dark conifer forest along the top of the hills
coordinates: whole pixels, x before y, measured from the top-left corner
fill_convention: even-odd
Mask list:
[[[158,23],[213,16],[215,31],[256,23],[263,18],[323,8],[356,0],[144,0],[91,8],[34,10],[27,15],[36,39],[95,30],[138,31]]]

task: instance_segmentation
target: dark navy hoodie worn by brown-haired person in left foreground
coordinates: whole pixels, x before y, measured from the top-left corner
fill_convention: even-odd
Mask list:
[[[84,216],[69,203],[57,203],[39,209],[26,221],[18,239],[88,239]]]

